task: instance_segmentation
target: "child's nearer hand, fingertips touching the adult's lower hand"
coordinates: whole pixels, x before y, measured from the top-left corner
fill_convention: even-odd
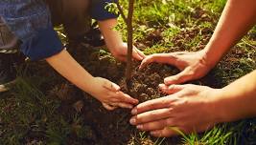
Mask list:
[[[92,90],[89,92],[101,101],[107,110],[114,110],[118,107],[132,109],[138,104],[138,100],[120,91],[120,87],[115,83],[102,77],[94,77]]]

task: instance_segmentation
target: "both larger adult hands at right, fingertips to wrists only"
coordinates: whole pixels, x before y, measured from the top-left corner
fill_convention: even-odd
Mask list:
[[[198,133],[218,123],[213,95],[220,92],[197,85],[175,85],[195,80],[208,73],[215,62],[208,62],[206,54],[200,52],[158,53],[147,56],[141,63],[143,69],[152,62],[166,63],[177,67],[181,73],[164,79],[159,89],[169,95],[153,99],[136,106],[131,114],[130,124],[137,129],[149,131],[157,137]]]

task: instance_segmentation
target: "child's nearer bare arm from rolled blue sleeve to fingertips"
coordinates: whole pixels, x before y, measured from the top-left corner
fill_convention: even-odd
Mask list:
[[[132,108],[138,100],[120,91],[116,84],[101,77],[93,77],[67,52],[46,58],[46,61],[62,76],[78,86],[82,91],[90,93],[100,100],[106,109],[110,107]]]

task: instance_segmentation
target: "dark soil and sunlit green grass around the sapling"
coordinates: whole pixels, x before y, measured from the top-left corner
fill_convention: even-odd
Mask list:
[[[122,4],[126,8],[127,2]],[[224,4],[224,0],[138,0],[134,14],[135,45],[147,54],[203,49]],[[118,29],[125,35],[122,20],[120,24]],[[104,49],[72,46],[69,51],[93,75],[121,86],[124,83],[125,64],[115,61]],[[255,70],[255,61],[254,28],[211,73],[191,83],[221,88]],[[159,64],[138,71],[138,64],[134,62],[130,95],[140,101],[164,96],[157,85],[178,71]],[[153,138],[128,124],[128,110],[105,111],[97,100],[65,81],[45,62],[26,63],[18,69],[18,83],[11,92],[0,93],[0,144],[256,143],[255,118],[221,124],[200,135]]]

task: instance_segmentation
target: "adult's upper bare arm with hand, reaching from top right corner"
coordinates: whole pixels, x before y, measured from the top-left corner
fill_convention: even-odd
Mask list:
[[[152,54],[142,61],[141,68],[152,62],[177,67],[181,73],[165,78],[166,85],[180,84],[203,77],[255,25],[255,7],[255,0],[228,0],[217,28],[204,50]]]

